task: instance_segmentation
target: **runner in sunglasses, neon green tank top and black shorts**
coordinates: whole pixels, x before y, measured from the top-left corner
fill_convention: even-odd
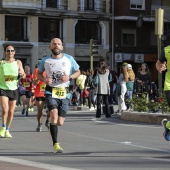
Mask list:
[[[12,138],[9,128],[13,120],[13,114],[18,94],[18,78],[25,77],[20,60],[14,58],[15,49],[12,45],[4,48],[5,58],[0,61],[0,103],[2,108],[2,128],[0,137]]]

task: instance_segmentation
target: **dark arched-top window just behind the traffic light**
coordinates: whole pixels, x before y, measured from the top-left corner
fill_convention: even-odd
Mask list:
[[[101,26],[98,21],[78,21],[75,29],[76,44],[89,44],[90,39],[101,44]]]

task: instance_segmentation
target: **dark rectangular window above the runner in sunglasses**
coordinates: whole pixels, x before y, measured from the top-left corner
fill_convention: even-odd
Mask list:
[[[5,40],[28,41],[26,17],[5,16]]]

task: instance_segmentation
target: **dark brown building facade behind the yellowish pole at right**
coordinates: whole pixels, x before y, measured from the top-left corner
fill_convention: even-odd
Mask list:
[[[133,65],[137,74],[142,62],[148,64],[152,81],[158,78],[155,63],[158,59],[155,35],[155,9],[164,9],[162,48],[170,44],[170,1],[114,0],[114,64]],[[137,22],[138,21],[138,22]],[[164,38],[165,37],[165,38]]]

